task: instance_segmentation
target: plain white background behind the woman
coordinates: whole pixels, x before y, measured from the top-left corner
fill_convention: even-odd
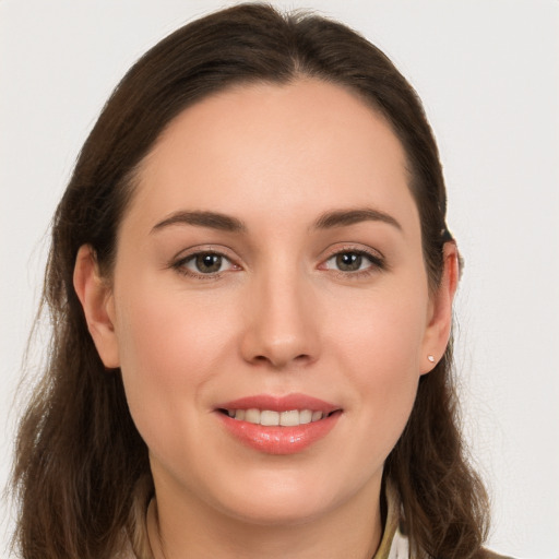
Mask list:
[[[143,51],[229,3],[0,0],[0,484],[46,231],[80,146]],[[489,543],[559,558],[559,2],[273,3],[349,24],[423,98],[466,261],[457,368],[466,438],[492,497]],[[1,507],[8,557],[12,520]]]

